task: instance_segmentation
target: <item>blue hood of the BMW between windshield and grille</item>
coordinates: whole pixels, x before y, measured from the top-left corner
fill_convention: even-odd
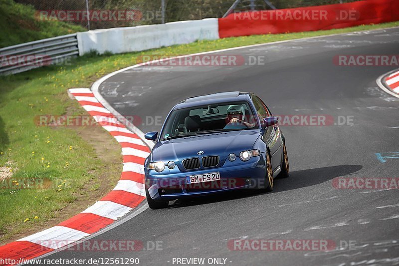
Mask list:
[[[186,158],[228,154],[249,150],[259,138],[259,130],[240,130],[203,134],[158,142],[152,151],[152,161],[182,161]],[[203,154],[198,155],[199,151]]]

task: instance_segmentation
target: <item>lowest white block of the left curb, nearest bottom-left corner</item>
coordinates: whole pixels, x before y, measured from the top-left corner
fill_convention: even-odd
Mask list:
[[[17,241],[29,241],[50,249],[58,249],[90,234],[64,226],[54,226]]]

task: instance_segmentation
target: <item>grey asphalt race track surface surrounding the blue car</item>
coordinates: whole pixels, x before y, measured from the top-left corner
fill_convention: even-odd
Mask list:
[[[145,249],[147,242],[160,241],[162,250],[61,251],[46,259],[133,257],[140,265],[173,265],[173,258],[224,258],[232,266],[399,265],[398,190],[332,185],[336,177],[399,176],[399,158],[383,163],[376,156],[399,152],[399,98],[376,84],[377,77],[395,67],[333,63],[334,56],[343,54],[399,54],[399,28],[217,54],[264,56],[265,63],[137,67],[109,78],[100,93],[122,115],[140,117],[142,123],[136,125],[143,132],[159,131],[180,100],[234,90],[256,93],[274,114],[328,115],[336,123],[338,117],[349,117],[350,122],[281,126],[291,175],[275,180],[272,193],[235,192],[145,209],[89,240],[140,240]],[[337,249],[231,251],[228,240],[237,239],[332,240]],[[345,245],[349,242],[351,248]]]

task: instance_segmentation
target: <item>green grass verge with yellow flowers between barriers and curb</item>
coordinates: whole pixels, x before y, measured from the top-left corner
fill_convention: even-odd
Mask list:
[[[62,188],[62,191],[57,191],[59,188],[54,186],[30,190],[2,189],[0,234],[3,234],[3,240],[31,228],[34,224],[38,227],[48,226],[46,221],[56,217],[57,211],[79,199],[80,193],[84,191],[82,188],[95,189],[98,186],[97,176],[102,173],[102,169],[109,167],[106,160],[96,158],[93,147],[82,139],[79,130],[38,127],[34,124],[34,118],[38,115],[62,115],[71,109],[75,115],[84,113],[76,101],[68,99],[67,88],[89,87],[101,76],[135,64],[140,55],[182,55],[398,25],[399,22],[392,22],[327,31],[225,38],[118,55],[89,54],[74,59],[68,66],[46,66],[0,78],[0,166],[7,165],[7,162],[12,163],[12,180],[20,177],[49,178],[60,181],[57,184]],[[106,137],[106,133],[104,134]],[[47,143],[48,141],[50,142]],[[116,156],[118,153],[119,149]],[[114,166],[115,169],[118,167],[120,165]],[[76,212],[84,208],[85,206],[78,206]],[[33,219],[35,216],[38,219]],[[29,221],[23,222],[25,218],[29,218]]]

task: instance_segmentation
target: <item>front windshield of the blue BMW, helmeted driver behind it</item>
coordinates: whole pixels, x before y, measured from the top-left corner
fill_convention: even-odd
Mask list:
[[[246,129],[258,129],[256,117],[247,102],[194,106],[171,113],[161,140]]]

